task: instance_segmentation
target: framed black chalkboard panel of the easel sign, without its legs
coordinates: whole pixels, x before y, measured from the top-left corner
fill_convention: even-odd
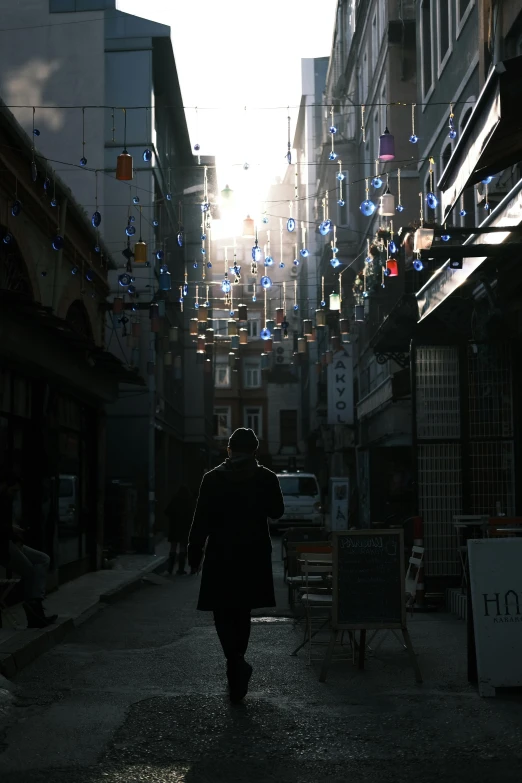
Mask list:
[[[334,628],[406,627],[403,535],[402,530],[332,533]]]

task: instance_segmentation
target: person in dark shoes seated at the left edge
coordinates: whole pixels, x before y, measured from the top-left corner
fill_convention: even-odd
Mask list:
[[[13,524],[13,502],[19,489],[15,476],[0,476],[0,565],[13,570],[22,579],[27,627],[45,628],[58,618],[56,614],[46,617],[42,603],[50,558],[45,552],[26,546],[24,530]]]

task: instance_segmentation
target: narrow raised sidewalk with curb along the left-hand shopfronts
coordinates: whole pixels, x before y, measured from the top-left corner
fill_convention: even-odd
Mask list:
[[[86,609],[78,617],[63,617],[48,628],[24,630],[23,638],[12,637],[0,643],[0,675],[11,678],[32,663],[42,653],[55,647],[62,639],[82,622],[92,617],[105,606],[116,603],[120,598],[130,595],[140,586],[141,580],[147,574],[164,571],[168,563],[168,555],[158,557],[146,568],[135,573],[118,587],[102,593],[98,601]]]

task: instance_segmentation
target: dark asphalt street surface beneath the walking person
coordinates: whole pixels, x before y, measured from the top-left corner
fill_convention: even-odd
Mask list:
[[[412,621],[417,686],[391,636],[364,673],[340,662],[320,684],[289,655],[292,622],[258,618],[251,693],[231,707],[197,589],[153,577],[24,670],[0,711],[2,783],[521,780],[522,702],[468,686],[460,622]]]

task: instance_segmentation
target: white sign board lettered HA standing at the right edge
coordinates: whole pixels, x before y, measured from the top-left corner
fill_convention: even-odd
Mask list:
[[[522,686],[522,539],[468,541],[479,693]]]

